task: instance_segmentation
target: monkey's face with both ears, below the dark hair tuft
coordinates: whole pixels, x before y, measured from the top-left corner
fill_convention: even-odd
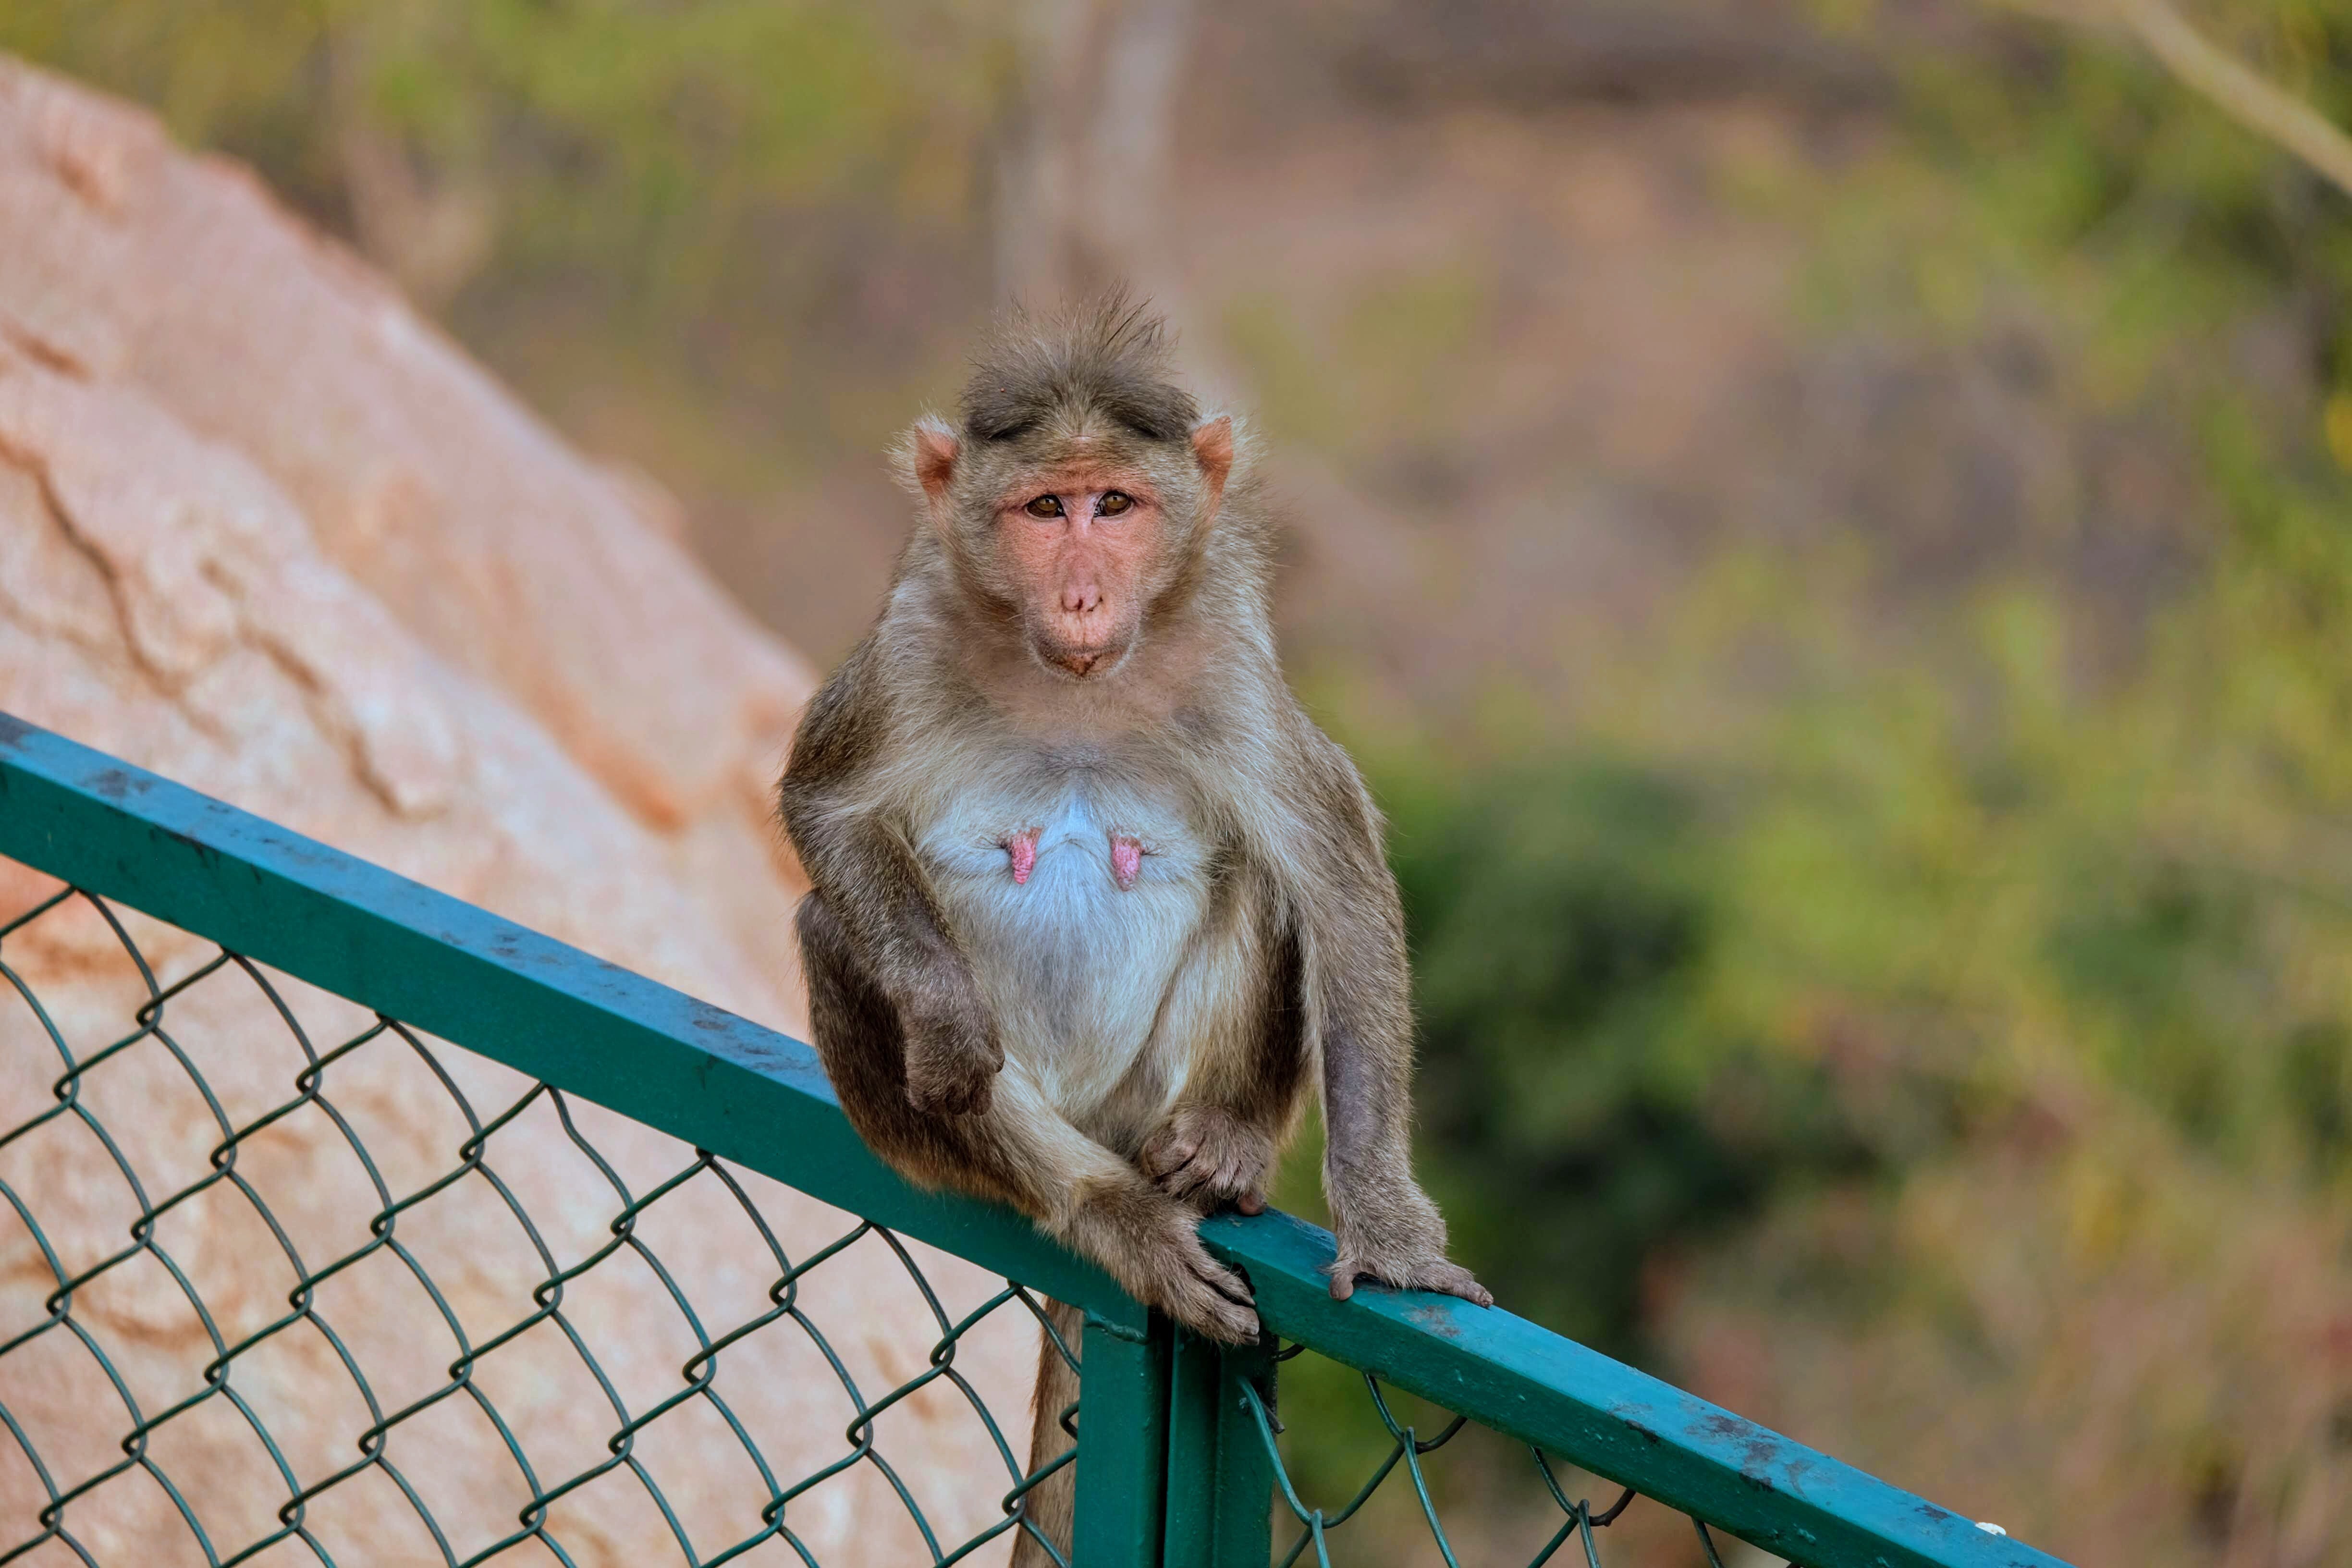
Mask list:
[[[1025,449],[1023,449],[1025,447]],[[1152,604],[1223,496],[1230,423],[1188,442],[1073,433],[1035,447],[967,449],[917,430],[915,463],[934,517],[985,592],[1009,607],[1042,665],[1101,679],[1136,646]]]

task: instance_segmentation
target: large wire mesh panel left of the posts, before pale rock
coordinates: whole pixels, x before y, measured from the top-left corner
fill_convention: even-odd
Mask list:
[[[89,893],[0,919],[0,1561],[1035,1533],[1030,1291]]]

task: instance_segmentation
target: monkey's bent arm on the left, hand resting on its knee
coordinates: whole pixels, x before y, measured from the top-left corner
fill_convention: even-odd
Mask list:
[[[875,719],[856,701],[861,668],[854,656],[809,703],[776,790],[779,816],[863,971],[898,1011],[908,1100],[974,1114],[988,1110],[1004,1046],[906,830],[854,804],[875,748]]]

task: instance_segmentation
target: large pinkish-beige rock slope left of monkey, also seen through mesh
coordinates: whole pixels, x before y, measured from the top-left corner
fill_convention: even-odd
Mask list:
[[[767,825],[767,783],[811,672],[687,559],[659,494],[564,449],[242,169],[5,59],[0,235],[0,710],[750,1018],[800,1023],[800,884]],[[0,863],[0,924],[54,891]],[[214,957],[125,922],[165,987]],[[87,1065],[139,1034],[148,990],[80,903],[0,936],[0,961],[47,1009],[45,1025],[0,987],[0,1126],[14,1126],[56,1105],[61,1053]],[[372,1025],[308,987],[282,992],[320,1053]],[[21,1434],[0,1439],[0,1549],[45,1530],[49,1497],[120,1467],[59,1516],[96,1561],[200,1563],[191,1523],[228,1556],[294,1519],[280,1514],[294,1486],[376,1453],[362,1441],[376,1420],[454,1387],[395,1422],[379,1462],[306,1502],[299,1523],[334,1561],[449,1561],[423,1512],[456,1559],[539,1523],[492,1408],[541,1488],[612,1462],[546,1514],[569,1561],[684,1561],[680,1533],[708,1556],[757,1533],[771,1500],[727,1415],[788,1488],[854,1450],[854,1403],[818,1335],[868,1401],[920,1375],[941,1335],[880,1237],[771,1300],[788,1265],[701,1171],[569,1281],[555,1314],[480,1349],[532,1321],[550,1267],[614,1246],[616,1182],[644,1199],[691,1152],[597,1107],[564,1105],[567,1126],[536,1098],[480,1166],[541,1251],[461,1154],[454,1091],[489,1121],[527,1091],[513,1074],[437,1046],[445,1084],[379,1034],[308,1093],[303,1046],[235,966],[160,1018],[71,1079],[68,1112],[0,1145],[0,1182],[24,1206],[0,1208],[0,1345],[52,1324],[61,1274],[129,1248],[75,1284],[71,1326],[0,1352],[0,1403]],[[235,1180],[214,1175],[223,1126],[280,1105],[294,1110],[235,1140]],[[372,1241],[388,1199],[461,1166],[400,1211],[400,1246]],[[851,1225],[743,1185],[793,1262]],[[358,1262],[301,1286],[346,1255]],[[950,1316],[990,1295],[976,1269],[917,1258]],[[682,1401],[614,1458],[616,1406],[642,1418],[684,1387],[703,1345],[779,1305],[797,1316],[727,1347],[715,1396]],[[263,1331],[230,1361],[235,1399],[198,1399],[207,1363]],[[1033,1342],[1014,1305],[957,1349],[1009,1432]],[[155,1422],[191,1399],[134,1455],[118,1448],[132,1403]],[[953,1382],[894,1406],[877,1450],[941,1540],[997,1516],[1004,1462]],[[924,1556],[873,1460],[793,1500],[783,1523],[826,1563]],[[71,1549],[52,1540],[28,1561]],[[285,1540],[259,1561],[318,1556]],[[522,1540],[510,1561],[553,1556]],[[795,1559],[771,1540],[746,1561]]]

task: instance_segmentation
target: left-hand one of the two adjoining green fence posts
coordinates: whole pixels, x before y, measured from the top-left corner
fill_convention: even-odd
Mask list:
[[[1167,1516],[1169,1335],[1087,1314],[1077,1352],[1073,1568],[1160,1568]]]

